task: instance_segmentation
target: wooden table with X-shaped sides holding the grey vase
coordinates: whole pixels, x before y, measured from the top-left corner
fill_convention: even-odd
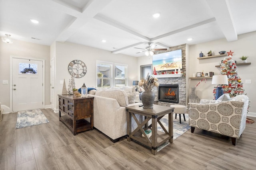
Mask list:
[[[165,143],[169,140],[170,143],[173,142],[173,110],[174,107],[167,107],[167,106],[160,106],[160,105],[154,105],[153,109],[144,109],[143,107],[139,107],[138,105],[135,106],[128,106],[126,107],[127,114],[127,141],[138,141],[148,147],[151,148],[151,153],[156,155],[157,154],[157,147]],[[144,115],[145,120],[140,123],[138,119],[135,117],[134,114]],[[169,131],[167,131],[162,123],[160,122],[160,119],[168,114],[169,120],[168,120],[168,127]],[[132,117],[136,121],[138,127],[132,131]],[[152,119],[152,124],[147,126],[148,121]],[[164,132],[157,130],[157,122],[160,124]],[[146,127],[145,127],[146,126]],[[144,129],[143,129],[144,127]],[[147,137],[145,133],[145,129],[151,129],[152,130],[152,136]],[[145,137],[142,137],[142,133]]]

